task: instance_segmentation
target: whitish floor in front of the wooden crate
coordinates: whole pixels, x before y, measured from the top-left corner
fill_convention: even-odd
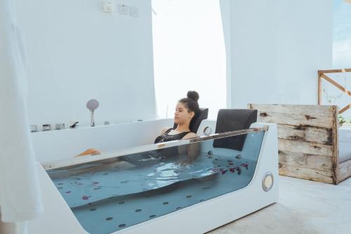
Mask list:
[[[351,234],[351,178],[338,186],[280,176],[279,202],[211,234]]]

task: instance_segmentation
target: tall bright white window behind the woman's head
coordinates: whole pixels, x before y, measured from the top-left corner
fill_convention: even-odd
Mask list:
[[[189,90],[216,119],[226,108],[226,57],[218,0],[152,0],[154,82],[159,118],[173,118]]]

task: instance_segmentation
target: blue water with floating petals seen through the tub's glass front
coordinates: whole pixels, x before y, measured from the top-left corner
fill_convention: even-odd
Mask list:
[[[48,174],[88,233],[113,233],[246,187],[263,135],[248,134],[242,151],[202,142],[202,152],[187,164],[187,155],[150,151]]]

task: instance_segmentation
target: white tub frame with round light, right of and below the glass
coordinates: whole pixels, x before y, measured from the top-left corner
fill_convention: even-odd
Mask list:
[[[266,131],[263,138],[256,171],[248,186],[157,219],[131,226],[116,232],[116,234],[205,233],[277,202],[279,196],[277,125],[260,123],[252,125],[252,127],[259,126],[269,126],[269,130]],[[267,171],[273,174],[274,184],[271,190],[265,192],[262,180]]]

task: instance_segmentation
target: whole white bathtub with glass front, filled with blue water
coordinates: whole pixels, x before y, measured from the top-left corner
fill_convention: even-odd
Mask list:
[[[158,131],[164,125],[170,126],[172,123],[171,119],[164,119],[149,124],[157,126]],[[154,138],[152,136],[148,139],[139,138],[132,143],[132,147],[124,147],[121,143],[108,145],[106,141],[114,141],[101,138],[115,136],[116,139],[124,139],[123,141],[129,137],[133,139],[133,134],[125,136],[124,131],[112,133],[111,129],[120,127],[129,128],[128,131],[134,134],[138,133],[140,128],[147,128],[142,123],[131,123],[128,126],[105,128],[108,129],[108,134],[105,135],[102,133],[104,128],[96,128],[98,131],[93,128],[82,129],[81,132],[76,131],[79,129],[46,132],[42,133],[43,136],[36,133],[34,146],[38,152],[37,159],[41,162],[37,168],[45,210],[38,219],[28,222],[28,233],[205,233],[278,200],[276,124],[252,124],[253,129],[246,132],[244,148],[241,151],[230,147],[214,148],[214,141],[233,138],[243,133],[237,131],[204,136],[205,129],[212,132],[216,129],[216,122],[211,120],[201,122],[197,133],[200,137],[192,140],[155,145],[150,144]],[[79,138],[68,137],[69,131],[78,134]],[[84,132],[88,131],[91,131],[88,136],[83,136]],[[157,131],[153,134],[157,135]],[[94,135],[92,132],[98,134]],[[56,148],[56,143],[50,144],[50,137],[46,137],[44,141],[55,149],[48,145],[38,148],[40,145],[35,143],[39,143],[44,134],[52,134],[50,137],[60,139],[63,144],[69,142],[75,145],[75,142],[70,141],[78,141],[79,147],[74,148],[72,152],[68,149],[60,151],[59,147]],[[59,134],[67,137],[59,138]],[[94,140],[84,142],[82,139],[85,137],[93,137]],[[190,145],[199,145],[200,149],[200,156],[191,164],[184,166],[178,164],[178,161],[173,162],[181,158],[179,151],[177,157],[162,156],[162,150],[173,154],[175,151],[172,149],[185,147],[187,157],[192,149]],[[99,148],[104,152],[102,155],[73,157],[85,148]],[[39,152],[39,149],[45,152]],[[109,151],[111,149],[112,152]],[[51,152],[51,155],[46,155],[46,152]],[[158,161],[158,153],[161,153],[161,161]],[[147,155],[152,160],[156,158],[156,161],[150,161]],[[141,159],[135,160],[137,157]],[[123,160],[117,161],[118,167],[109,166],[105,169],[120,158]],[[147,167],[145,164],[139,166],[138,162],[146,162],[145,159],[152,163]],[[119,164],[121,162],[126,167],[119,166],[122,165]],[[100,170],[101,167],[104,169]],[[157,172],[150,173],[148,167],[153,167]],[[174,171],[173,167],[180,172]],[[132,173],[133,170],[136,174]],[[164,178],[162,175],[165,171],[167,180],[159,180],[160,177]],[[170,171],[173,176],[168,179]],[[147,181],[140,188],[138,173],[140,181]],[[104,179],[108,176],[119,186],[108,186],[110,179]],[[128,187],[126,181],[135,184]],[[102,193],[102,190],[105,192]],[[86,191],[91,192],[84,195]],[[70,195],[79,199],[71,199]],[[174,198],[178,195],[180,198]],[[184,197],[181,198],[182,196]]]

